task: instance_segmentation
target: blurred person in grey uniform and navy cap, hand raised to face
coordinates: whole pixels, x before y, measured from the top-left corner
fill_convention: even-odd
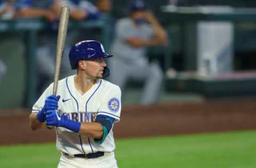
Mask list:
[[[130,5],[130,15],[117,21],[111,52],[116,55],[110,62],[110,81],[125,88],[129,79],[143,81],[140,104],[157,101],[163,74],[157,62],[148,62],[146,49],[166,45],[167,35],[143,1]]]

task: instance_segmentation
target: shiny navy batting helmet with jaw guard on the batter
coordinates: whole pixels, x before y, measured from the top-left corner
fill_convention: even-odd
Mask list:
[[[107,58],[113,55],[109,55],[105,52],[103,45],[96,40],[84,40],[76,43],[69,52],[69,61],[71,69],[77,68],[79,60],[93,60],[95,58]],[[103,78],[109,75],[109,70],[105,67],[103,71]]]

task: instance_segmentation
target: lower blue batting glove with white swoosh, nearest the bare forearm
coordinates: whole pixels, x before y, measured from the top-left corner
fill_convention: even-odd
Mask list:
[[[81,123],[69,120],[67,115],[60,115],[57,110],[46,111],[46,125],[64,127],[74,132],[79,132]]]

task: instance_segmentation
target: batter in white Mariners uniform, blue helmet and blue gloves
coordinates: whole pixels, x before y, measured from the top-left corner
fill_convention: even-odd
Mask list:
[[[103,58],[111,57],[101,43],[85,40],[69,52],[77,74],[51,84],[39,97],[29,116],[32,130],[55,127],[58,167],[117,167],[113,125],[121,114],[121,90],[102,78],[109,75]]]

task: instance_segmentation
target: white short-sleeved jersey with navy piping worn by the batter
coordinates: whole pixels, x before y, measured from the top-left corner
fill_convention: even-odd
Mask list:
[[[60,95],[59,112],[79,122],[93,122],[97,115],[120,120],[121,90],[109,81],[99,79],[84,95],[78,93],[74,83],[75,75],[62,79],[58,83],[57,95]],[[47,96],[52,95],[53,83],[39,97],[32,112],[42,109]],[[85,137],[66,128],[55,127],[57,149],[67,154],[88,154],[95,152],[113,152],[115,142],[112,129],[102,144],[97,144],[92,137]]]

